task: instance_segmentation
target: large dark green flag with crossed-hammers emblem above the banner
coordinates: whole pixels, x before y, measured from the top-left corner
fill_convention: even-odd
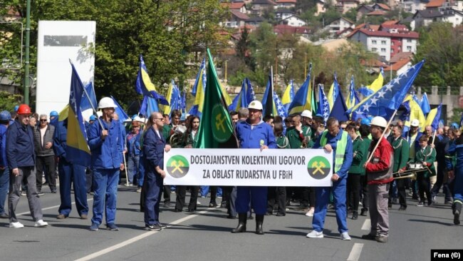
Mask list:
[[[207,56],[209,56],[209,65],[206,73],[206,91],[196,148],[238,148],[234,126],[209,48]]]

